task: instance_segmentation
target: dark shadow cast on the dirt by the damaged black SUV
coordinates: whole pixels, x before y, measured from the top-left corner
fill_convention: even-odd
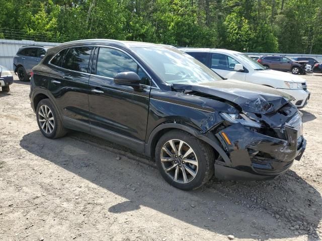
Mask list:
[[[317,235],[321,196],[291,170],[266,182],[213,178],[188,192],[170,186],[155,168],[144,164],[151,165],[151,161],[137,162],[141,156],[132,158],[125,149],[113,149],[110,143],[86,134],[70,133],[50,140],[35,131],[25,135],[20,146],[128,200],[108,207],[110,213],[146,206],[214,233],[233,233],[237,238],[266,240],[310,233],[311,240]]]

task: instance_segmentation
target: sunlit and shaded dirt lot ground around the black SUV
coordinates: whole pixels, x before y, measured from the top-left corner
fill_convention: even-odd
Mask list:
[[[320,240],[322,75],[307,75],[307,149],[274,181],[184,192],[149,160],[81,133],[43,137],[29,82],[0,92],[0,240]]]

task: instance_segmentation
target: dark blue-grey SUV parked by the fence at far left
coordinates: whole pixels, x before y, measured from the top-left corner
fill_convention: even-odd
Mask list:
[[[28,81],[31,69],[39,64],[46,55],[47,48],[43,46],[23,46],[14,57],[13,70],[20,81]]]

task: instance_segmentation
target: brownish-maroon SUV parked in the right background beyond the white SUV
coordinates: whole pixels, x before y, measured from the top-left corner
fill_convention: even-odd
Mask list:
[[[295,61],[285,56],[275,55],[261,56],[257,62],[270,69],[291,71],[292,74],[305,74],[305,65],[308,63],[308,61]]]

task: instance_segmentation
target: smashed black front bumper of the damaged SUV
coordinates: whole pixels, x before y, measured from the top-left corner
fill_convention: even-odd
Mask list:
[[[229,145],[222,133],[229,138]],[[306,141],[292,127],[284,127],[287,140],[265,136],[241,124],[234,124],[216,134],[230,156],[230,164],[217,160],[215,176],[224,180],[274,179],[286,172],[294,159],[301,158]],[[298,137],[298,135],[300,135]]]

